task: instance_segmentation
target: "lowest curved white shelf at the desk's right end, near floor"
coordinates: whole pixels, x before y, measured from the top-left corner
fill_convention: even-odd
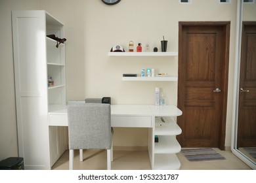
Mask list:
[[[181,162],[176,154],[156,154],[154,170],[179,170]]]

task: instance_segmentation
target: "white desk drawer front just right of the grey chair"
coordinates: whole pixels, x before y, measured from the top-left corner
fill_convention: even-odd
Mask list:
[[[111,116],[112,127],[152,127],[150,116]]]

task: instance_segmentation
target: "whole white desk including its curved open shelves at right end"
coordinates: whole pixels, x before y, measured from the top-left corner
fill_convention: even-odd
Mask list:
[[[49,126],[68,126],[67,106],[51,106],[49,108]],[[181,163],[176,153],[181,146],[176,135],[181,134],[181,128],[172,118],[181,116],[182,111],[173,105],[111,105],[112,127],[148,127],[148,155],[152,169],[179,169]],[[159,125],[156,117],[165,118],[165,123]],[[160,142],[154,142],[155,135]]]

